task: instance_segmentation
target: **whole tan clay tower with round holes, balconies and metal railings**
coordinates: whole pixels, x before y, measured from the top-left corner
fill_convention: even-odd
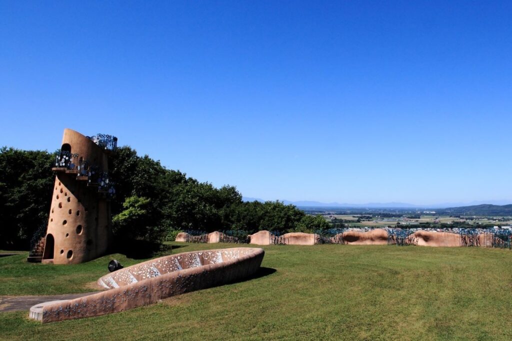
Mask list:
[[[117,138],[65,129],[55,176],[42,263],[77,264],[103,255],[112,241],[108,157]]]

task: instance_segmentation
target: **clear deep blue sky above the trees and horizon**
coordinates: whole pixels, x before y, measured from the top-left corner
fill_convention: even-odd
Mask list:
[[[0,2],[0,145],[65,127],[246,197],[512,199],[512,2]]]

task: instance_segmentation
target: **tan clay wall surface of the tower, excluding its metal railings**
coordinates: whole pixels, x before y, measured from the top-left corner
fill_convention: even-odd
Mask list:
[[[105,152],[86,136],[66,129],[62,145],[71,153],[108,171]],[[42,263],[77,264],[104,254],[111,241],[110,203],[98,195],[98,187],[77,180],[76,173],[59,172],[53,186],[47,240]],[[49,237],[50,236],[50,237]]]

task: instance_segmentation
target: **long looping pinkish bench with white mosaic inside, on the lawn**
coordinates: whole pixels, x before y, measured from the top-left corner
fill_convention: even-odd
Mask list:
[[[258,271],[264,255],[263,249],[248,247],[168,255],[102,276],[98,286],[106,291],[35,305],[29,317],[47,323],[145,306],[247,278]]]

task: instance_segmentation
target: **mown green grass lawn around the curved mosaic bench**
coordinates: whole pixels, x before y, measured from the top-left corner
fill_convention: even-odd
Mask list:
[[[185,244],[173,253],[231,247]],[[1,339],[512,339],[512,251],[267,246],[266,275],[126,312],[42,325],[0,313]],[[90,291],[116,254],[75,266],[0,258],[0,293]]]

